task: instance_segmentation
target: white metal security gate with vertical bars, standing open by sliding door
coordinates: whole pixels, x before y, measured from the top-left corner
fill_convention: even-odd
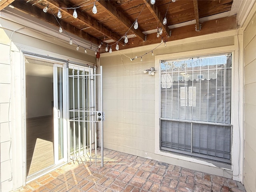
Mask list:
[[[68,124],[70,159],[103,166],[102,66],[70,64],[68,68]],[[98,99],[97,99],[98,98]],[[100,143],[100,154],[97,144]]]

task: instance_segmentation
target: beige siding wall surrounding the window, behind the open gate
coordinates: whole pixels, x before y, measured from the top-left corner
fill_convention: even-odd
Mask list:
[[[128,57],[123,54],[113,55],[114,52],[102,54],[100,64],[103,66],[104,147],[223,176],[225,173],[214,166],[200,165],[154,153],[157,115],[155,113],[156,76],[144,74],[143,70],[155,67],[155,55],[229,45],[234,45],[232,35],[212,40],[198,37],[190,42],[175,42],[167,47],[162,45],[154,50],[154,56],[151,52],[143,56],[142,62],[140,58],[131,62],[128,57],[143,55],[152,50],[151,47],[145,46],[145,50],[141,52],[133,49],[132,53],[126,54]],[[198,54],[200,55],[200,52]],[[228,174],[226,176],[230,177]]]

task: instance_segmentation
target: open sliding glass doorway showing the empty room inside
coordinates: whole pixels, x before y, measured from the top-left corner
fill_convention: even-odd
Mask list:
[[[65,161],[64,67],[25,56],[27,181]]]

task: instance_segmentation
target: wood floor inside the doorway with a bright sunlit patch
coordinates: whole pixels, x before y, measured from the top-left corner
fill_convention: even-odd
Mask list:
[[[26,119],[27,176],[54,165],[52,120],[52,116]]]

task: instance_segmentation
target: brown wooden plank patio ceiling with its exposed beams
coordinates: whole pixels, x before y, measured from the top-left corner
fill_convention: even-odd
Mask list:
[[[235,16],[200,22],[200,18],[231,10],[233,0],[2,0],[0,10],[12,3],[15,9],[62,28],[105,52],[234,29]],[[97,13],[92,12],[96,5]],[[43,9],[48,6],[48,11]],[[74,9],[76,8],[76,9]],[[62,17],[58,18],[60,10]],[[73,17],[74,10],[77,18]],[[167,24],[163,24],[164,17]],[[138,21],[138,29],[134,23]],[[179,26],[184,22],[194,24]],[[157,31],[162,34],[157,37]],[[125,35],[128,42],[124,42]]]

